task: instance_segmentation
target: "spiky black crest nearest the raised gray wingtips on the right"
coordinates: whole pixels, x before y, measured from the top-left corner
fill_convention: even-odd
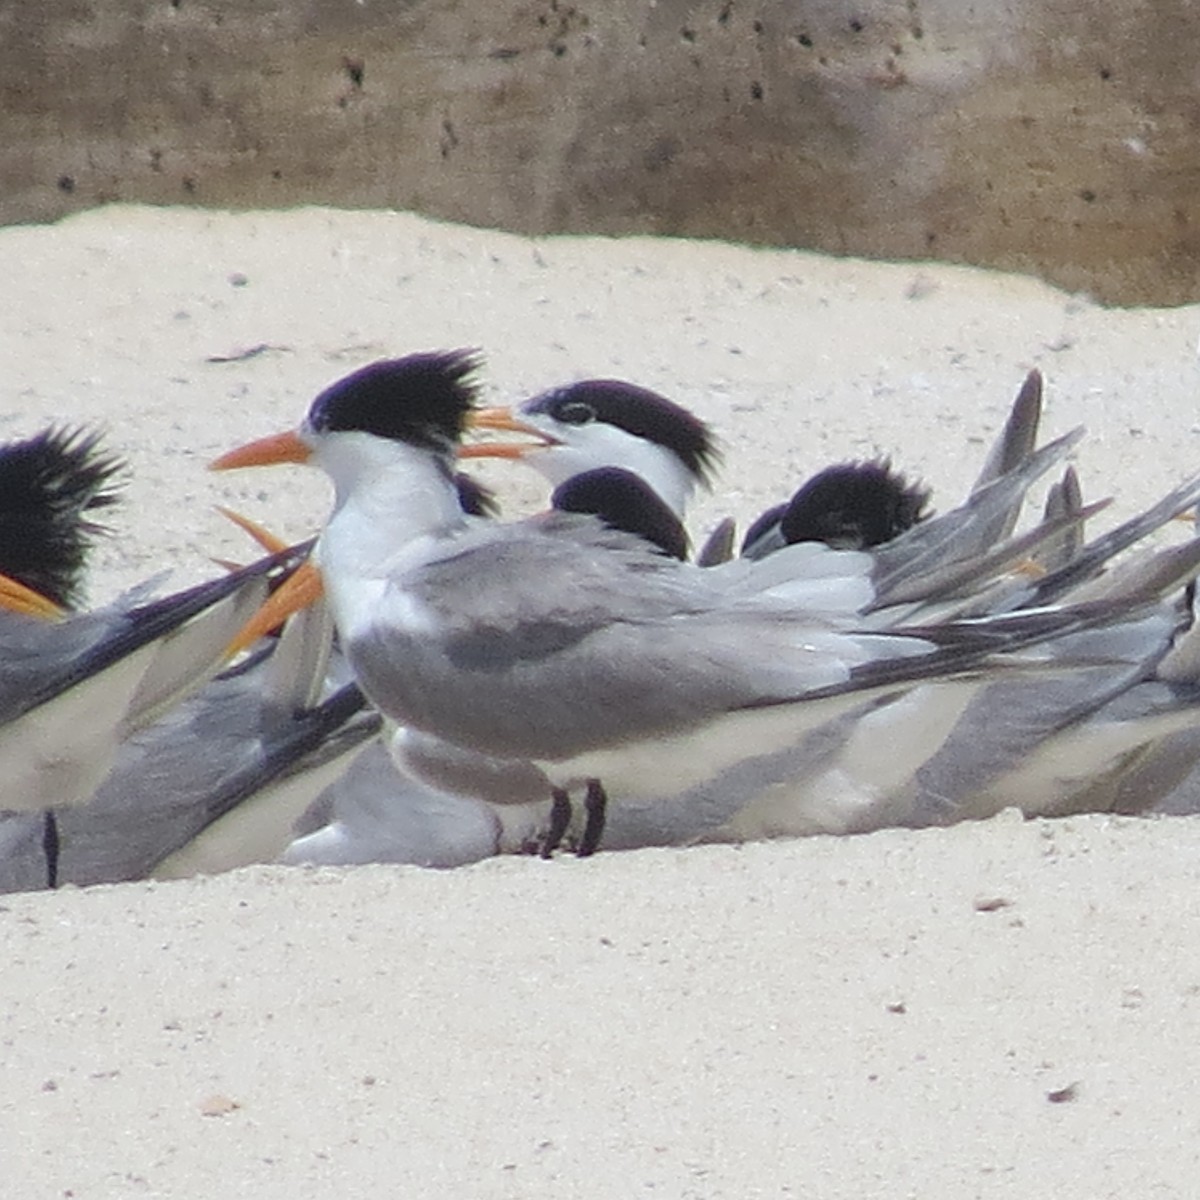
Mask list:
[[[790,545],[882,546],[928,515],[929,494],[928,487],[910,484],[886,460],[840,463],[814,475],[792,497],[780,532]]]

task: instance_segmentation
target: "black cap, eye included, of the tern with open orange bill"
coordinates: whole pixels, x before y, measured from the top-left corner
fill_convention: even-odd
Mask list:
[[[648,388],[622,379],[582,379],[535,396],[526,413],[545,413],[564,425],[604,421],[676,455],[707,482],[720,454],[713,431],[695,413]]]

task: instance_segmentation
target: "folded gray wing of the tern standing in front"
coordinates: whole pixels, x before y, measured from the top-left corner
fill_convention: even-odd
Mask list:
[[[979,667],[1116,610],[883,634],[749,598],[592,526],[456,542],[395,584],[347,654],[392,719],[496,755],[563,760],[710,718]],[[568,535],[569,534],[569,535]],[[414,625],[406,613],[437,620]]]

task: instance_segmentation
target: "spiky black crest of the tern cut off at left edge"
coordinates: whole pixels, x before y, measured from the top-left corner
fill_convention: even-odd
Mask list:
[[[0,446],[0,572],[62,607],[78,604],[92,540],[107,532],[88,514],[115,503],[124,470],[83,430]]]

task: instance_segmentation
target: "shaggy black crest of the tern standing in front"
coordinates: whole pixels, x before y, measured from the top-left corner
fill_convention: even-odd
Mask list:
[[[308,409],[317,433],[356,431],[449,451],[475,403],[475,350],[383,359],[326,388]]]

